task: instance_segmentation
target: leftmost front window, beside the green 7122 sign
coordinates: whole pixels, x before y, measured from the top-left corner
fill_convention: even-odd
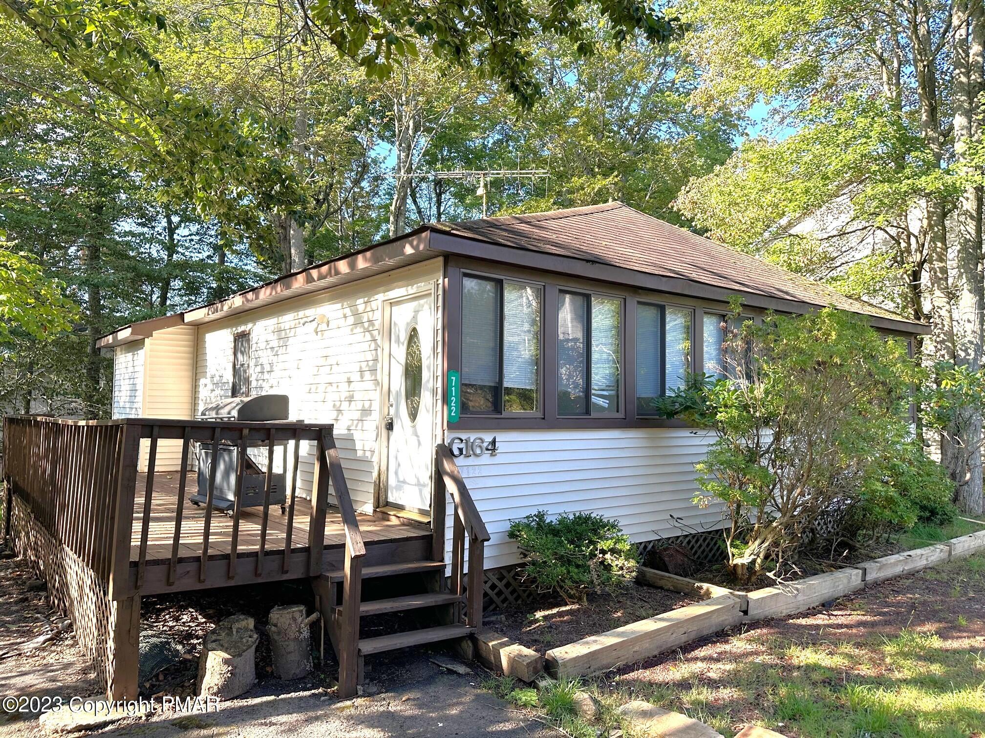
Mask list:
[[[462,278],[462,412],[541,407],[541,299],[536,284]]]

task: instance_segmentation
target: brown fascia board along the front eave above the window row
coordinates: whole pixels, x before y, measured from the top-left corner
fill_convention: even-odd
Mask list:
[[[427,248],[442,254],[454,254],[456,256],[483,259],[500,264],[513,264],[541,272],[605,281],[611,284],[624,284],[654,292],[667,292],[669,294],[698,297],[718,302],[727,303],[732,295],[740,295],[747,305],[782,313],[806,313],[810,310],[826,307],[826,305],[770,297],[741,289],[725,289],[680,277],[662,277],[645,272],[636,272],[635,270],[625,269],[624,267],[615,267],[609,264],[592,262],[575,257],[503,246],[492,241],[448,233],[438,228],[431,231]],[[930,326],[908,321],[905,318],[893,320],[870,313],[859,314],[869,318],[874,328],[895,331],[910,336],[930,333]]]

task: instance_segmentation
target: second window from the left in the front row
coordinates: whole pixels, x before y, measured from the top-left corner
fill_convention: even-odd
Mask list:
[[[623,300],[558,292],[558,415],[621,410]]]

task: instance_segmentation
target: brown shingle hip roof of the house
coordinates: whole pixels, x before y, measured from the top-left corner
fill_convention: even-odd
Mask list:
[[[503,246],[913,323],[623,203],[439,223],[435,227]]]

